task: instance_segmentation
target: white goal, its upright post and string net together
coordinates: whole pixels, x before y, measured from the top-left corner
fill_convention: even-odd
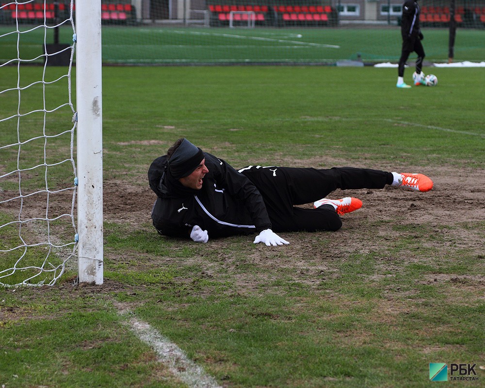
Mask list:
[[[10,31],[0,32],[0,48],[16,52],[11,59],[0,53],[0,72],[16,69],[16,80],[0,89],[0,286],[54,285],[66,268],[75,267],[76,256],[79,282],[102,284],[101,0],[77,1],[75,18],[74,0],[65,13],[57,14],[55,8],[54,17],[51,10],[59,2],[44,0],[43,20],[37,17],[36,25],[22,20],[21,10],[38,4],[0,4],[0,12],[13,20]],[[69,24],[72,43],[50,45],[51,32],[55,37]],[[42,55],[22,45],[37,38]],[[69,63],[58,63],[66,54]],[[25,72],[31,64],[38,65],[29,66],[31,70],[39,71]],[[57,71],[49,71],[49,65],[59,65],[64,74],[52,79]],[[76,107],[71,100],[73,68]],[[41,73],[41,78],[32,81],[26,75],[31,73]],[[51,94],[62,95],[64,88],[66,101],[50,106]],[[28,103],[39,89],[41,101]],[[29,104],[30,111],[25,110]],[[70,154],[63,156],[69,148]]]

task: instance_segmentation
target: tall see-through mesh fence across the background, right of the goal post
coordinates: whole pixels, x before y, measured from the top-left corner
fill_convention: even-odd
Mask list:
[[[103,62],[397,62],[403,2],[103,0]],[[420,6],[427,61],[448,61],[452,14],[457,28],[455,61],[485,60],[485,0],[420,0]]]

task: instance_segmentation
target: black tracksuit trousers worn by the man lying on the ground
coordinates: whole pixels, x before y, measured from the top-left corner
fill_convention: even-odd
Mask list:
[[[354,167],[253,166],[240,171],[261,193],[275,232],[338,230],[342,222],[333,206],[302,209],[294,205],[313,203],[336,189],[382,189],[393,179],[385,171]]]

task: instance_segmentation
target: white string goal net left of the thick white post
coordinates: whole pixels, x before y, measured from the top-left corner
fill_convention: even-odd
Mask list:
[[[76,266],[72,4],[0,6],[0,285],[52,285]]]

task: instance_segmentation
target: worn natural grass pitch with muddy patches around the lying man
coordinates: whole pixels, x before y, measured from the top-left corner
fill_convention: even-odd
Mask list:
[[[484,378],[485,73],[424,71],[436,87],[367,67],[105,67],[105,284],[76,286],[73,268],[0,290],[0,384],[184,387],[120,310],[223,387],[427,387],[430,362]],[[163,238],[146,171],[182,136],[235,167],[419,171],[435,187],[345,192],[364,207],[340,231],[284,247]]]

